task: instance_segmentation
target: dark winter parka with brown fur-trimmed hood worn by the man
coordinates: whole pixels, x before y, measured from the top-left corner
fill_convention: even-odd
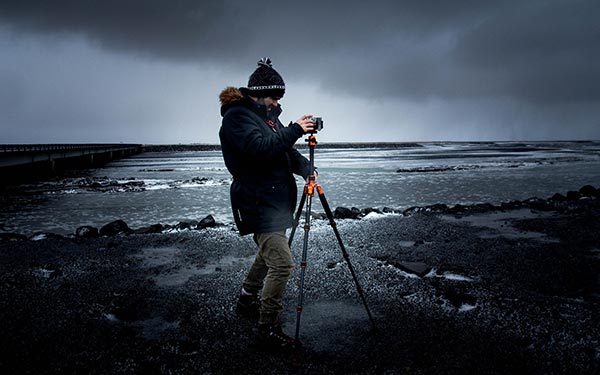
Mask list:
[[[219,138],[233,176],[231,207],[240,234],[291,227],[298,194],[293,174],[310,174],[309,161],[293,148],[302,128],[283,126],[279,107],[267,111],[239,89],[226,88],[220,99]]]

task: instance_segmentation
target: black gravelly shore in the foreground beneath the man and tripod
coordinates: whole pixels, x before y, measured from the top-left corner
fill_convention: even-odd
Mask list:
[[[236,316],[255,250],[231,226],[5,236],[0,372],[597,374],[598,202],[557,197],[338,220],[376,331],[333,231],[316,220],[296,353],[265,352],[254,323]],[[414,264],[405,262],[426,269],[407,273]],[[298,276],[284,299],[290,334]]]

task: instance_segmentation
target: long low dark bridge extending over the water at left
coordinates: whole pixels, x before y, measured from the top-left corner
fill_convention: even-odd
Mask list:
[[[102,166],[139,154],[141,144],[8,144],[0,145],[0,185],[60,175],[67,170]]]

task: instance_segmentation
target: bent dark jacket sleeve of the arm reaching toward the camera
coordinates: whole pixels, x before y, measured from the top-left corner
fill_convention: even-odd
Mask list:
[[[251,158],[270,158],[292,149],[304,134],[302,127],[293,124],[265,135],[250,114],[242,111],[230,113],[223,119],[223,135],[239,152]]]

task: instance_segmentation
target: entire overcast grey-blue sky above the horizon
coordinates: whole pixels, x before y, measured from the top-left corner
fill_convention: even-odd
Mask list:
[[[324,142],[600,139],[600,1],[3,0],[0,143],[218,143],[269,57]]]

